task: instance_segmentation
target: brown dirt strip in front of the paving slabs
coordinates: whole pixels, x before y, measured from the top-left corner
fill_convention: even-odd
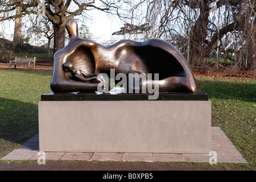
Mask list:
[[[39,165],[37,162],[0,163],[0,170],[23,171],[225,171],[225,168],[207,163],[165,163],[165,162],[89,162],[89,161],[47,161]]]

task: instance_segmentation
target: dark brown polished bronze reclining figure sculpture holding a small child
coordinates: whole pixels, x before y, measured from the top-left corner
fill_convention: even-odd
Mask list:
[[[55,53],[51,90],[54,93],[95,92],[98,85],[108,84],[101,73],[115,75],[123,73],[158,73],[159,92],[197,93],[198,87],[189,64],[181,53],[170,43],[160,39],[146,42],[122,40],[105,47],[92,40],[78,37],[78,25],[74,19],[66,21],[69,44]],[[139,86],[149,82],[140,81]],[[127,85],[130,87],[133,85]],[[126,89],[127,89],[126,87]]]

